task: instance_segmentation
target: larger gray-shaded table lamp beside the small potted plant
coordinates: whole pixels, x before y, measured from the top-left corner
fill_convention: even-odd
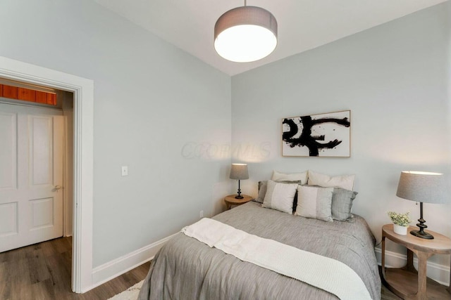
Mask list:
[[[420,230],[412,230],[410,234],[424,239],[433,239],[433,235],[424,232],[424,229],[428,226],[424,225],[426,221],[423,219],[423,202],[448,202],[448,198],[445,197],[443,174],[402,171],[400,182],[397,185],[396,195],[407,200],[420,202],[420,219],[418,219],[419,223],[416,224]]]

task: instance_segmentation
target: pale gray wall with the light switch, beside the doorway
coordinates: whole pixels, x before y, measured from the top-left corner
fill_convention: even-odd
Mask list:
[[[94,1],[0,6],[0,56],[94,80],[93,267],[216,212],[230,153],[184,145],[230,145],[230,77]]]

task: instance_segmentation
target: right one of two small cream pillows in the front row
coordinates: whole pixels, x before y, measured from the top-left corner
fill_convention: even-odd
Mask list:
[[[295,215],[322,221],[333,221],[331,204],[333,188],[299,185]]]

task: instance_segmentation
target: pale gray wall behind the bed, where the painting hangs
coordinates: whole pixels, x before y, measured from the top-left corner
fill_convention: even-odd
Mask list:
[[[257,195],[274,169],[356,174],[353,211],[378,241],[386,211],[419,219],[419,205],[395,193],[403,170],[451,173],[450,15],[447,1],[234,76],[233,160],[250,174],[243,192]],[[281,156],[283,117],[338,110],[351,110],[350,158]],[[451,204],[424,209],[430,229],[451,236]]]

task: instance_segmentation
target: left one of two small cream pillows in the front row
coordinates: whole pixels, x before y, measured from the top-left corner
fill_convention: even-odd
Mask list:
[[[268,181],[266,195],[261,207],[292,214],[296,188],[297,183],[276,183],[275,181]]]

